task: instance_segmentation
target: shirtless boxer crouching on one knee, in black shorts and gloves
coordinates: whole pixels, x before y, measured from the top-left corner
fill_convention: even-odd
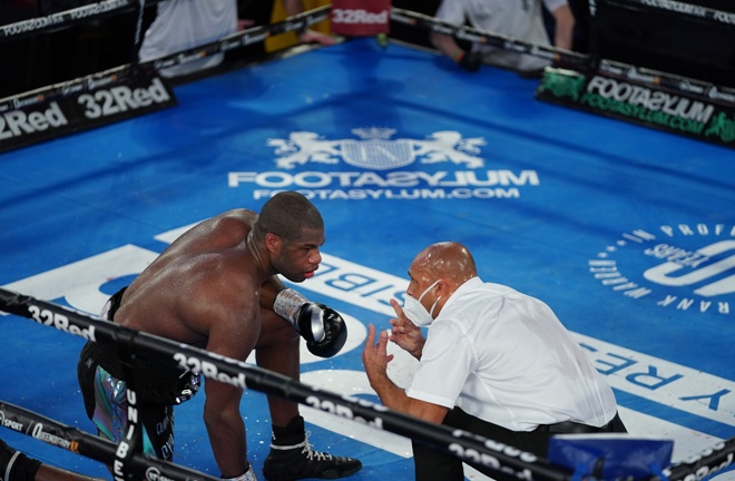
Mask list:
[[[235,360],[245,361],[255,350],[258,366],[297,380],[298,334],[323,357],[336,354],[347,336],[335,311],[310,303],[276,277],[296,283],[312,277],[322,244],[318,210],[301,194],[281,193],[259,215],[228,210],[182,235],[110,298],[102,316]],[[114,346],[87,343],[78,372],[87,414],[100,435],[119,442],[127,423],[126,370],[116,353]],[[146,366],[135,376],[144,451],[170,460],[173,406],[196,393],[198,375],[182,375],[160,360]],[[204,391],[204,422],[222,477],[254,480],[239,411],[243,390],[207,380]],[[362,468],[359,460],[313,451],[296,403],[268,396],[268,408],[273,438],[266,479],[336,479]]]

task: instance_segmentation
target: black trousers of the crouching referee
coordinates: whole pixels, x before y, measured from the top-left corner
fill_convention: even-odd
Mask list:
[[[627,432],[620,418],[615,418],[602,428],[587,426],[578,423],[559,423],[548,426],[541,425],[535,431],[510,431],[497,424],[482,421],[470,415],[459,408],[454,408],[444,418],[444,425],[458,428],[490,440],[512,445],[523,451],[531,452],[540,458],[546,458],[549,449],[549,439],[555,434],[572,432]],[[413,462],[416,481],[463,481],[464,472],[462,461],[443,451],[427,446],[412,441]],[[498,471],[491,471],[481,465],[474,469],[494,479],[496,481],[518,481],[513,475],[502,475]]]

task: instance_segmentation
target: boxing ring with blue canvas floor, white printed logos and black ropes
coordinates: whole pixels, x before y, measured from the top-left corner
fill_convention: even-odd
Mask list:
[[[97,9],[110,14],[134,3]],[[251,29],[204,55],[326,14]],[[400,9],[392,17],[449,28]],[[94,78],[110,85],[145,67]],[[3,99],[0,111],[79,95],[89,84]],[[90,475],[107,477],[102,464],[117,462],[121,472],[218,477],[203,394],[177,408],[177,464],[131,450],[120,455],[90,434],[76,359],[94,335],[246,384],[243,413],[258,474],[271,430],[262,393],[274,393],[304,405],[316,449],[363,461],[351,479],[412,479],[406,436],[532,479],[570,479],[569,469],[528,453],[389,412],[370,391],[360,364],[367,324],[388,326],[386,301],[405,288],[413,255],[452,239],[470,247],[484,279],[559,313],[607,375],[631,433],[674,440],[669,479],[726,469],[735,450],[732,150],[540,102],[537,87],[512,72],[469,76],[432,52],[352,39],[169,88],[176,101],[147,115],[13,146],[0,156],[0,311],[12,314],[2,318],[8,429],[0,435]],[[294,382],[95,317],[107,295],[187,226],[236,206],[257,209],[280,189],[304,193],[324,215],[324,263],[297,288],[345,316],[350,340],[339,356],[303,354]],[[391,375],[405,385],[415,365],[395,354]]]

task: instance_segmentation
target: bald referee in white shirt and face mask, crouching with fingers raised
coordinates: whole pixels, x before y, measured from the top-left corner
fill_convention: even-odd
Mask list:
[[[542,458],[553,434],[626,432],[612,390],[548,305],[482,282],[458,243],[423,249],[409,276],[391,334],[375,343],[371,325],[362,354],[385,406]],[[388,376],[389,340],[421,362],[406,390]],[[416,481],[464,479],[458,458],[415,442],[413,455]]]

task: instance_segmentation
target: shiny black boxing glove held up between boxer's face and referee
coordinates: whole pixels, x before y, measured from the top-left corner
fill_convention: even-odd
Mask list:
[[[332,357],[347,341],[344,320],[324,304],[310,302],[301,306],[294,327],[306,340],[308,352],[320,357]]]

